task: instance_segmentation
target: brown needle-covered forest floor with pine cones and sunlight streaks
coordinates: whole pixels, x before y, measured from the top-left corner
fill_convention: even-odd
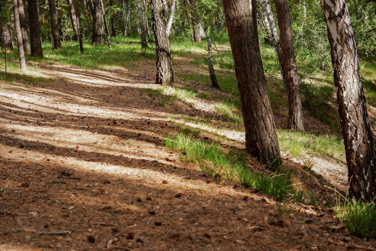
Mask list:
[[[175,58],[176,73],[196,71],[191,60]],[[160,88],[153,59],[105,69],[28,65],[38,66],[28,73],[33,85],[17,76],[0,81],[0,250],[376,248],[374,240],[350,236],[332,209],[277,202],[209,176],[165,148],[166,135],[189,127],[200,130],[199,138],[243,151],[244,129],[222,122],[215,110],[230,95],[179,77],[178,87],[209,97],[149,95],[146,88]],[[278,127],[286,122],[281,114]],[[335,134],[307,113],[305,123],[316,134]],[[327,184],[346,190],[343,156],[282,157],[297,173],[307,157],[315,160]],[[334,192],[306,185],[334,202]]]

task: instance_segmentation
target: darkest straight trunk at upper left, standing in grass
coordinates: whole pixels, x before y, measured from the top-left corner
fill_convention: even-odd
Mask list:
[[[31,42],[31,55],[43,56],[42,52],[42,32],[41,23],[39,21],[38,1],[29,0],[29,30],[30,30],[30,42]]]

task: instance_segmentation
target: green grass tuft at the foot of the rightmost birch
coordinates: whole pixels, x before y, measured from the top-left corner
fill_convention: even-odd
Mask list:
[[[337,208],[337,214],[350,234],[376,239],[375,204],[350,202],[340,210]]]

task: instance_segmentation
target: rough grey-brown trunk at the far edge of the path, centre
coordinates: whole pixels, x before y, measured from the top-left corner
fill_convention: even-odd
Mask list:
[[[173,86],[174,76],[163,0],[151,0],[150,2],[152,3],[152,20],[156,50],[157,77],[155,83]]]

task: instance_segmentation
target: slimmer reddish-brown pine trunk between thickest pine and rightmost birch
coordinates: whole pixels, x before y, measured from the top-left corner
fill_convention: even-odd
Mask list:
[[[287,128],[304,132],[303,108],[300,100],[298,71],[294,55],[294,40],[287,0],[274,0],[277,11],[282,47],[282,61],[287,81],[288,123]]]

